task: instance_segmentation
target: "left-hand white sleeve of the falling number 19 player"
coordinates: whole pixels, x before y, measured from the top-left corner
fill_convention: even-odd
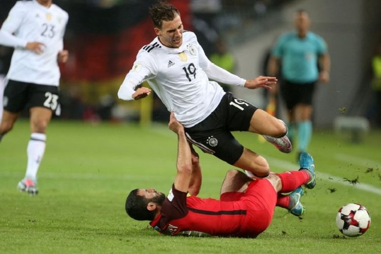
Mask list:
[[[119,99],[125,101],[133,100],[132,94],[135,92],[135,87],[156,76],[156,62],[151,55],[147,55],[148,53],[143,54],[138,53],[132,69],[125,76],[123,83],[119,87]]]

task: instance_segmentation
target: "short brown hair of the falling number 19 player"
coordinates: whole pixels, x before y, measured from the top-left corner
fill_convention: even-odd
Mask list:
[[[179,10],[177,10],[173,5],[168,3],[166,0],[160,0],[156,4],[149,8],[149,16],[153,21],[153,25],[157,28],[162,28],[163,20],[171,21],[176,15],[180,15]]]

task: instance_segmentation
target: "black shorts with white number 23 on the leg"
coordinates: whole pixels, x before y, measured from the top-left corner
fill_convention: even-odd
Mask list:
[[[8,80],[4,90],[3,105],[5,110],[13,113],[18,113],[25,107],[45,107],[58,115],[60,107],[58,87]]]

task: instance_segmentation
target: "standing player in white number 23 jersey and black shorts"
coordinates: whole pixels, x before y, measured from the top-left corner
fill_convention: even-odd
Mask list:
[[[52,0],[18,1],[0,29],[0,44],[14,47],[4,90],[0,140],[26,107],[30,115],[25,177],[17,188],[36,195],[37,171],[45,152],[46,128],[52,113],[59,114],[58,62],[66,62],[63,35],[69,15]]]

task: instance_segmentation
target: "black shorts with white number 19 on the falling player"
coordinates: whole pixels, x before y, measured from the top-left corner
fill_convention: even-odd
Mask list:
[[[243,146],[232,131],[248,131],[257,107],[227,92],[217,108],[195,126],[185,128],[187,140],[203,152],[213,154],[234,165],[243,153]]]

